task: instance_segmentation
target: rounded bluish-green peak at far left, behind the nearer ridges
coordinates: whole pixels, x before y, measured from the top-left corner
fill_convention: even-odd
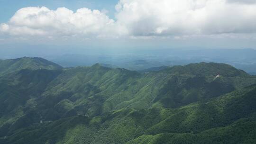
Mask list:
[[[0,75],[15,72],[22,69],[39,70],[48,69],[55,70],[62,67],[56,63],[47,61],[42,58],[23,57],[18,59],[2,60],[0,61]]]

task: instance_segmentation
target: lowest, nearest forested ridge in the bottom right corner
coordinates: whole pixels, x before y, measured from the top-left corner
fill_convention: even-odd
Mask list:
[[[142,135],[126,144],[254,144],[255,134],[256,117],[249,117],[230,126],[213,128],[199,134]]]

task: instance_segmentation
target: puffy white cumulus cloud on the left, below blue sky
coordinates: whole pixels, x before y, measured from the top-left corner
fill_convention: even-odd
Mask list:
[[[99,36],[113,25],[114,20],[99,10],[28,7],[19,9],[0,30],[14,36]]]

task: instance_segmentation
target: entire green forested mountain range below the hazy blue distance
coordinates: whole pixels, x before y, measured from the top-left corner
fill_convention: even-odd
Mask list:
[[[256,77],[230,65],[136,72],[32,60],[1,64],[0,144],[256,142]]]

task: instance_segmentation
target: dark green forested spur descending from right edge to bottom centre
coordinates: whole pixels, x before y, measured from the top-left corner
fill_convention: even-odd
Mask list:
[[[182,115],[186,111],[186,115]],[[256,142],[256,86],[236,90],[178,113],[127,144],[253,144]],[[180,116],[179,116],[180,115]],[[181,118],[183,116],[183,118]]]

